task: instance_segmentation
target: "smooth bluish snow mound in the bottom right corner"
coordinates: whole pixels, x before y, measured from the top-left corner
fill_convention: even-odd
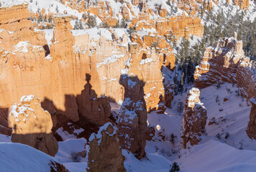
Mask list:
[[[219,142],[216,138],[209,138],[190,150],[181,151],[177,163],[183,166],[183,171],[191,172],[232,171],[232,169],[239,171],[242,167],[242,171],[250,172],[255,171],[255,161],[255,151],[241,151]]]

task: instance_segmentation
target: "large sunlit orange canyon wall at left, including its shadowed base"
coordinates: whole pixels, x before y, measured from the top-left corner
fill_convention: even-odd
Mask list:
[[[129,51],[127,35],[120,38],[114,29],[106,31],[112,39],[106,35],[95,39],[84,30],[78,34],[72,30],[71,16],[55,16],[54,29],[39,30],[28,20],[27,5],[1,8],[0,12],[6,16],[0,19],[3,133],[10,134],[6,114],[22,95],[39,97],[42,108],[51,115],[65,115],[74,122],[81,115],[103,125],[109,121],[109,101],[124,99],[119,76],[131,69],[145,82],[147,110],[157,108],[163,100],[160,69],[164,59],[170,67],[175,61],[164,37],[150,38],[134,55],[134,50]],[[167,48],[156,52],[147,47],[155,41],[161,42],[160,48]]]

